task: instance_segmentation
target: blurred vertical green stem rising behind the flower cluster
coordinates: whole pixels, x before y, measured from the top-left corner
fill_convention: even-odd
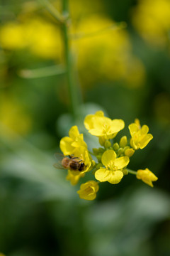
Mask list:
[[[67,86],[69,92],[69,100],[70,100],[70,110],[74,119],[77,119],[79,115],[79,100],[78,100],[78,87],[76,82],[74,81],[74,70],[73,70],[73,61],[72,55],[70,51],[70,41],[69,41],[69,4],[68,0],[62,0],[62,9],[63,16],[67,17],[67,20],[62,24],[62,32],[64,39],[64,60],[66,67],[66,75],[67,75]]]

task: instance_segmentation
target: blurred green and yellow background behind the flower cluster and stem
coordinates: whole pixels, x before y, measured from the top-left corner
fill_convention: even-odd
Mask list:
[[[50,1],[59,11],[62,0]],[[170,1],[69,0],[79,119],[70,113],[60,23],[40,1],[0,4],[0,252],[8,256],[170,255]],[[86,114],[139,118],[154,139],[130,161],[154,188],[125,176],[95,201],[54,169],[54,153]],[[130,138],[130,135],[129,135]],[[81,179],[81,183],[83,179]]]

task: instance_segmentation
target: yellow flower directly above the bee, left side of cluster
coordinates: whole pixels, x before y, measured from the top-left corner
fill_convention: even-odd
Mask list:
[[[60,140],[60,149],[62,153],[67,156],[74,154],[74,150],[80,146],[87,148],[83,134],[79,134],[79,129],[75,125],[69,130],[69,137],[64,137]]]

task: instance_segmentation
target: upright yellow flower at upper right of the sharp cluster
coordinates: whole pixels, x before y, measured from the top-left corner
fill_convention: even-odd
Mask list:
[[[152,134],[148,134],[149,127],[143,125],[140,127],[139,119],[135,119],[135,123],[129,125],[130,135],[130,145],[133,149],[143,149],[149,141],[153,138]]]

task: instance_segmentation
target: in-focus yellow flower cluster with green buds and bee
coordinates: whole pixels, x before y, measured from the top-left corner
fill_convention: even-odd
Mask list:
[[[152,181],[157,181],[157,176],[152,171],[132,171],[127,168],[135,150],[143,149],[153,138],[152,134],[148,134],[147,125],[141,127],[138,119],[129,125],[130,143],[126,136],[121,137],[119,143],[114,141],[118,132],[125,127],[125,123],[122,119],[112,120],[105,117],[102,111],[87,115],[84,126],[91,135],[98,137],[101,144],[98,149],[93,149],[93,153],[88,150],[84,136],[79,134],[77,126],[69,130],[69,137],[64,137],[60,141],[60,149],[65,159],[62,167],[68,169],[67,180],[76,185],[79,178],[84,177],[89,171],[92,171],[96,178],[96,181],[90,180],[81,184],[80,190],[77,191],[80,198],[94,200],[100,182],[117,184],[127,174],[135,174],[138,179],[153,186]],[[97,160],[94,161],[92,156]],[[65,162],[67,164],[64,164]]]

